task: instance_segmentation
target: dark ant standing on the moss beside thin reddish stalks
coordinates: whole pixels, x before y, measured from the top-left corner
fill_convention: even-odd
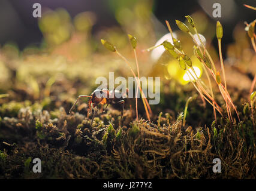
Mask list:
[[[74,106],[76,106],[76,103],[78,100],[80,100],[81,97],[89,97],[88,100],[88,106],[89,106],[89,113],[92,112],[92,108],[97,107],[99,104],[104,105],[107,104],[107,106],[109,106],[109,104],[112,105],[120,105],[122,106],[122,110],[121,110],[121,119],[119,121],[119,127],[121,126],[121,122],[122,122],[122,117],[123,117],[123,113],[124,113],[124,107],[125,107],[125,99],[128,97],[128,89],[127,92],[125,94],[122,94],[120,91],[118,90],[107,90],[106,88],[102,89],[102,90],[94,90],[94,92],[91,94],[91,96],[79,96],[77,97],[76,102],[73,104],[73,106],[71,107],[70,111],[68,113],[71,112],[71,110],[74,108]],[[106,109],[107,106],[105,107],[105,109],[103,110],[103,113],[106,113]],[[96,113],[98,112],[98,107],[97,110],[94,112],[94,114],[92,115],[92,120],[91,120],[91,126],[92,126],[92,122],[94,121],[94,117],[96,115]]]

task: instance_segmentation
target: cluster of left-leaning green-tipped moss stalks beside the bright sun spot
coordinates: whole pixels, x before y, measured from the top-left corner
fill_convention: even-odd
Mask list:
[[[202,67],[204,69],[204,72],[207,76],[207,81],[209,86],[207,87],[206,83],[204,83],[201,79],[198,78],[193,63],[191,61],[191,58],[187,56],[184,51],[182,50],[182,46],[180,44],[180,40],[177,40],[173,38],[173,32],[171,30],[171,26],[168,23],[168,21],[165,21],[167,24],[168,30],[170,31],[171,37],[173,38],[173,44],[170,42],[164,41],[162,42],[162,46],[167,50],[167,53],[171,55],[174,59],[177,59],[179,62],[180,67],[188,72],[188,77],[195,87],[195,89],[200,94],[200,97],[203,101],[207,101],[210,103],[213,107],[213,113],[215,116],[215,121],[217,121],[216,118],[216,111],[219,112],[221,116],[223,115],[222,108],[216,103],[215,95],[216,93],[213,92],[212,83],[216,82],[219,88],[219,93],[221,93],[222,98],[225,101],[226,104],[226,111],[228,118],[230,121],[234,121],[233,116],[231,115],[231,108],[233,108],[237,114],[237,118],[240,121],[239,113],[237,112],[236,106],[234,106],[233,101],[231,100],[230,94],[227,91],[227,83],[225,79],[225,69],[223,64],[223,58],[222,58],[222,51],[221,51],[221,39],[223,38],[223,28],[219,21],[216,23],[216,37],[218,39],[218,47],[219,47],[219,59],[221,62],[221,71],[224,79],[224,85],[221,82],[221,75],[219,72],[216,71],[215,63],[213,62],[212,57],[210,56],[209,52],[207,51],[206,45],[205,45],[205,38],[203,35],[199,34],[197,32],[197,28],[195,26],[195,22],[192,19],[191,16],[186,16],[186,19],[188,20],[188,23],[191,24],[192,29],[194,30],[195,34],[192,34],[192,31],[189,30],[188,26],[186,26],[185,23],[182,21],[176,20],[176,24],[179,27],[182,32],[188,33],[189,36],[193,39],[194,42],[194,55],[200,60]],[[203,38],[203,39],[202,39]],[[177,44],[178,42],[178,44]],[[153,50],[156,47],[149,48],[148,50]],[[212,79],[210,78],[212,76]]]

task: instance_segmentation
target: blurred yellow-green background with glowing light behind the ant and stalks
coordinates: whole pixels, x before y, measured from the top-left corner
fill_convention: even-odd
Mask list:
[[[216,2],[221,4],[221,18],[212,16],[212,5]],[[41,4],[41,18],[32,16],[34,3]],[[52,107],[68,109],[77,95],[95,90],[98,76],[108,78],[109,72],[115,72],[116,77],[132,76],[124,61],[100,43],[100,39],[106,39],[115,44],[135,70],[127,33],[138,41],[141,76],[160,76],[161,91],[165,92],[166,86],[169,92],[179,91],[179,85],[188,84],[189,79],[177,60],[162,53],[156,53],[156,58],[141,50],[152,47],[168,33],[165,26],[168,20],[183,50],[200,72],[200,62],[193,56],[192,39],[175,23],[175,19],[186,23],[187,15],[194,18],[198,32],[206,38],[216,66],[220,64],[215,27],[216,21],[221,21],[227,84],[247,93],[256,73],[256,57],[244,21],[250,23],[256,14],[243,4],[255,7],[256,1],[1,0],[0,93],[10,97],[0,99],[0,104],[10,100],[49,103],[50,96]],[[185,91],[192,88],[188,85]],[[180,99],[186,100],[188,96],[184,96]],[[159,111],[161,107],[178,108],[176,103],[175,99],[171,102],[163,98]]]

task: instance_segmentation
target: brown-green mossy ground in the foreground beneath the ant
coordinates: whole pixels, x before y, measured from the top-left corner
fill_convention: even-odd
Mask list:
[[[182,94],[162,96],[171,97],[181,110]],[[0,178],[256,177],[255,130],[246,109],[241,122],[215,123],[210,106],[203,109],[196,98],[189,104],[185,127],[182,115],[161,109],[161,104],[163,113],[152,122],[135,121],[134,110],[125,109],[118,127],[120,111],[110,107],[91,127],[87,105],[67,115],[70,104],[57,108],[47,98],[2,104]],[[41,159],[42,173],[32,172],[34,158]],[[212,171],[214,158],[221,159],[221,173]]]

